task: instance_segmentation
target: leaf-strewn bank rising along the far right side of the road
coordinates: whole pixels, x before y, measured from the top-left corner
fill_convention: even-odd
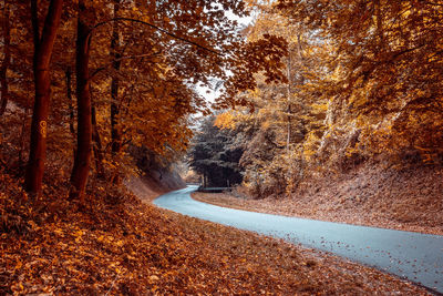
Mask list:
[[[443,169],[362,166],[301,184],[289,196],[193,193],[195,200],[254,212],[443,235]]]

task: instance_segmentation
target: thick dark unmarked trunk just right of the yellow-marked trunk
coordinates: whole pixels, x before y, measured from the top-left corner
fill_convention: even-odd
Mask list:
[[[75,44],[78,133],[76,154],[71,174],[70,198],[84,204],[84,192],[91,163],[92,122],[89,59],[91,44],[91,13],[87,13],[84,0],[79,1],[78,35]]]

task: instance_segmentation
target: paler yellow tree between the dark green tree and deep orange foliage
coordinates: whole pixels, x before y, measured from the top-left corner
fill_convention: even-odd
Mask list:
[[[244,137],[244,185],[257,197],[285,194],[297,186],[326,127],[327,100],[318,89],[312,91],[312,85],[322,84],[329,74],[323,62],[327,44],[272,9],[272,3],[256,4],[248,42],[255,44],[268,34],[287,44],[284,52],[276,52],[284,61],[279,67],[285,79],[270,82],[265,71],[255,74],[255,89],[237,94],[251,112],[240,108],[224,120]]]

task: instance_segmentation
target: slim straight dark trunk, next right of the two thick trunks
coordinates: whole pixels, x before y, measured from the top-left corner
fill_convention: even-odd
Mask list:
[[[119,17],[120,0],[114,1],[114,18]],[[122,133],[119,126],[119,114],[120,114],[120,103],[119,103],[119,76],[116,73],[121,68],[121,53],[120,53],[120,32],[119,23],[113,22],[112,28],[112,39],[111,39],[111,54],[113,58],[112,67],[114,69],[114,75],[111,81],[111,140],[112,140],[112,156],[114,161],[119,161],[117,156],[122,150]],[[117,166],[119,167],[119,166]],[[120,183],[119,172],[113,174],[112,182],[114,184]]]

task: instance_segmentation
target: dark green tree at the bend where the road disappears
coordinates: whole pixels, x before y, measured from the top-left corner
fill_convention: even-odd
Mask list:
[[[241,183],[243,146],[235,140],[234,131],[215,125],[215,116],[202,122],[189,151],[189,166],[202,175],[205,187]]]

